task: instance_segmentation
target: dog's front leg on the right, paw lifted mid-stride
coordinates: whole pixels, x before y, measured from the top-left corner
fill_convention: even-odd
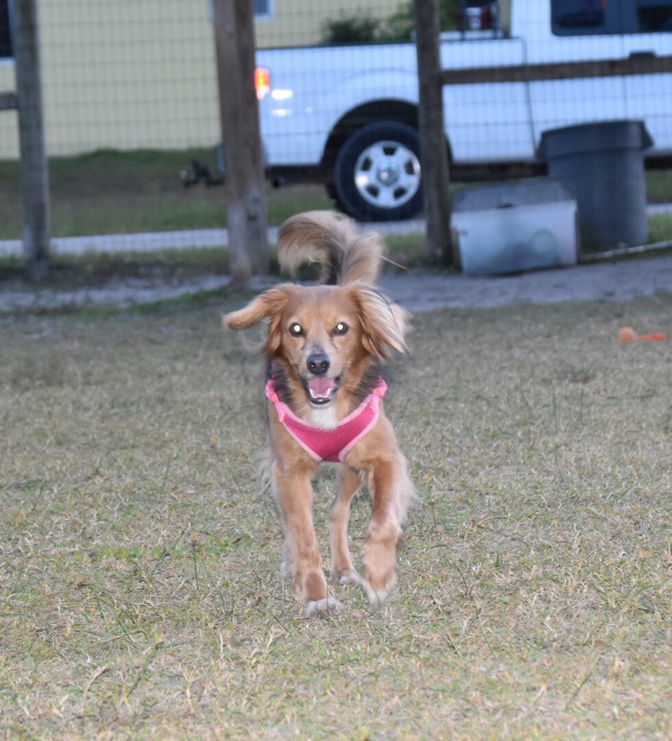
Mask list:
[[[362,588],[370,604],[379,607],[394,586],[396,547],[412,487],[401,455],[376,460],[367,474],[373,507],[362,551]]]

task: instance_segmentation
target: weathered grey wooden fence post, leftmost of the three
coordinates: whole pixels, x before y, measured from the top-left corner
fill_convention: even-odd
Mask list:
[[[24,260],[30,279],[39,280],[49,269],[50,207],[36,0],[14,0],[10,16],[19,99]]]

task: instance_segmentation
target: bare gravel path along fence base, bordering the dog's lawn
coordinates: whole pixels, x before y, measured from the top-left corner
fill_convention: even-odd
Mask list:
[[[184,282],[127,279],[96,288],[57,291],[34,290],[15,282],[0,293],[0,312],[55,309],[65,306],[118,306],[175,298],[197,290],[227,285],[227,276],[204,276]],[[252,288],[270,285],[257,280]],[[498,307],[513,304],[548,304],[563,301],[628,301],[636,296],[672,293],[672,256],[647,256],[620,262],[576,265],[538,270],[513,276],[471,278],[439,276],[409,270],[387,274],[379,281],[382,290],[413,312],[454,307]]]

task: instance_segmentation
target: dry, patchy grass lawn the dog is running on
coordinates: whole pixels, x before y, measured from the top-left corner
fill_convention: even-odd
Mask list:
[[[246,298],[0,319],[5,737],[668,737],[671,345],[615,336],[672,297],[416,316],[422,504],[390,602],[328,620],[279,578]]]

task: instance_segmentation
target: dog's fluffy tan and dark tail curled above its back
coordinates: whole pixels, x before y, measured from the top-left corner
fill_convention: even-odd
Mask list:
[[[377,234],[358,234],[351,219],[333,211],[299,213],[278,233],[280,267],[293,273],[304,260],[320,262],[320,282],[328,285],[373,284],[381,256]]]

